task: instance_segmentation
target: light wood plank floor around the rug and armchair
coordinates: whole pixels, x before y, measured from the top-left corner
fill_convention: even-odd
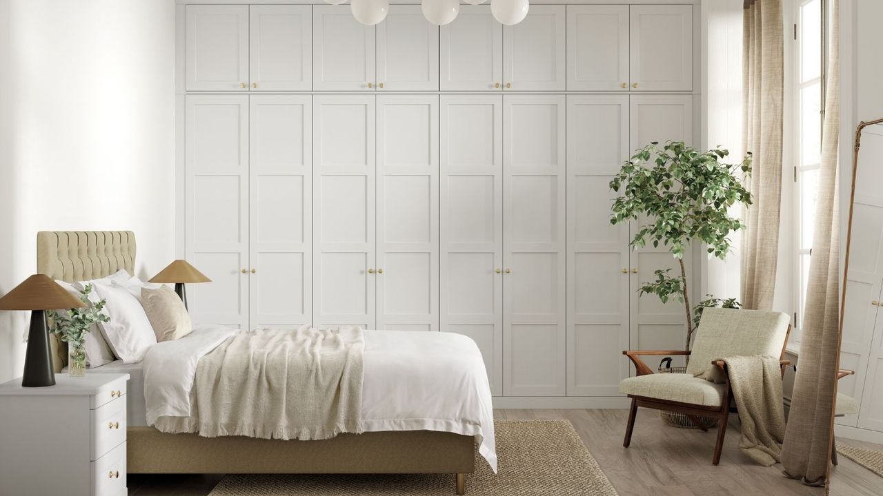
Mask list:
[[[711,462],[716,432],[668,427],[662,424],[658,412],[641,409],[631,447],[625,449],[623,432],[627,416],[627,410],[494,410],[497,418],[570,420],[621,496],[824,494],[822,488],[783,477],[781,466],[761,467],[741,455],[736,447],[739,424],[735,416],[730,419],[726,447],[717,467]],[[868,443],[861,446],[881,448]],[[840,466],[834,469],[831,494],[883,494],[883,479],[843,456],[840,460]],[[211,492],[221,477],[132,475],[129,494],[201,496]],[[469,494],[468,478],[466,493]]]

